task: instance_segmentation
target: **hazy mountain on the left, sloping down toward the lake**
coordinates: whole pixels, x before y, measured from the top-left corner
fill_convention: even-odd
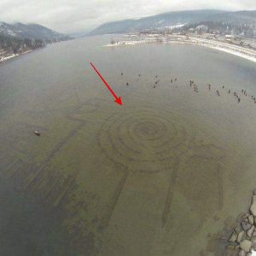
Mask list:
[[[40,39],[43,41],[62,41],[70,39],[69,36],[55,32],[38,24],[8,24],[0,22],[0,35],[5,37]]]

